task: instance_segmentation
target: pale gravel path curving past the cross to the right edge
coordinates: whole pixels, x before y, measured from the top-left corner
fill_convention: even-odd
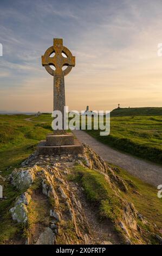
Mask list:
[[[160,165],[114,150],[84,131],[75,130],[73,132],[82,143],[89,144],[105,161],[126,169],[129,173],[154,186],[162,184],[162,167]]]

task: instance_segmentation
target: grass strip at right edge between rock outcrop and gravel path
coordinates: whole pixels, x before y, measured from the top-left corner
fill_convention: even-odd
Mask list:
[[[140,214],[144,215],[147,220],[150,220],[150,222],[162,228],[162,198],[157,197],[157,189],[118,166],[114,166],[113,164],[109,164],[109,166],[113,168],[117,167],[120,172],[120,177],[126,182],[128,193],[121,192],[122,196],[129,202],[132,202],[135,208]],[[134,193],[134,190],[138,193]]]

